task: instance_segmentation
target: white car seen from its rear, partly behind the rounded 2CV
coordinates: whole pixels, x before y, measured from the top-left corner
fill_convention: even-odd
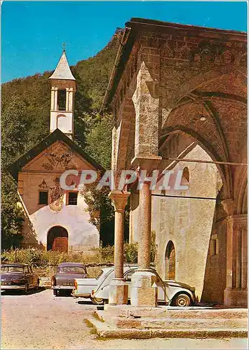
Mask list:
[[[133,266],[137,265],[125,265],[123,269],[126,271],[126,269],[130,269]],[[93,304],[103,304],[103,299],[94,297],[92,293],[112,272],[114,272],[114,267],[103,267],[95,279],[74,279],[73,297],[86,297],[90,298]]]

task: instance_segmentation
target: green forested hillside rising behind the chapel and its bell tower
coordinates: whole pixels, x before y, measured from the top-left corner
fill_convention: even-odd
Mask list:
[[[74,141],[97,162],[108,169],[112,153],[112,117],[98,112],[105,95],[121,30],[117,30],[107,46],[89,59],[71,66],[77,91],[74,105]],[[58,57],[59,59],[59,57]],[[2,85],[1,97],[1,247],[17,247],[22,239],[22,210],[18,208],[17,184],[8,173],[8,166],[49,134],[52,71],[11,80]],[[98,198],[102,218],[110,235],[112,209],[107,193]],[[89,203],[91,205],[91,203]],[[96,203],[94,204],[96,206]],[[112,243],[113,237],[106,237]],[[100,237],[101,239],[101,237]]]

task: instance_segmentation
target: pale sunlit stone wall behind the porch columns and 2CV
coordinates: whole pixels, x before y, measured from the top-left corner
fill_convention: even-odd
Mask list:
[[[211,160],[200,146],[195,146],[185,158]],[[189,169],[189,190],[169,190],[166,191],[166,195],[216,198],[217,190],[222,186],[217,167],[204,163],[179,162],[174,170],[186,169],[186,167]],[[159,194],[161,191],[154,191],[154,194],[156,193]],[[131,197],[130,241],[137,241],[140,227],[139,195],[134,193]],[[220,301],[225,286],[226,244],[224,231],[220,230],[221,248],[217,255],[211,258],[209,247],[213,232],[215,202],[215,200],[178,199],[152,195],[152,230],[156,231],[156,269],[163,279],[166,279],[166,246],[168,241],[173,241],[175,246],[175,279],[195,286],[196,295],[201,299],[204,293],[204,276],[206,276],[206,279],[208,278],[210,281],[210,283],[206,283],[206,288],[211,288],[205,292],[206,299]],[[220,265],[221,262],[222,265]],[[216,288],[215,280],[219,279],[216,274],[213,275],[213,269],[216,268],[217,274],[222,268],[219,280],[221,288],[218,284]]]

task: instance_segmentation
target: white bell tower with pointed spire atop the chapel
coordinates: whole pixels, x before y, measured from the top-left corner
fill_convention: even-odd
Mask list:
[[[51,83],[50,132],[60,129],[67,137],[73,139],[76,80],[69,68],[65,48],[49,79]]]

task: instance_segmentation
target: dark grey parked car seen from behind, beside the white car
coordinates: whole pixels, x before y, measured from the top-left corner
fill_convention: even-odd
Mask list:
[[[74,279],[85,279],[87,276],[86,266],[79,262],[62,262],[58,265],[57,272],[51,279],[53,295],[58,296],[62,291],[72,293]]]

